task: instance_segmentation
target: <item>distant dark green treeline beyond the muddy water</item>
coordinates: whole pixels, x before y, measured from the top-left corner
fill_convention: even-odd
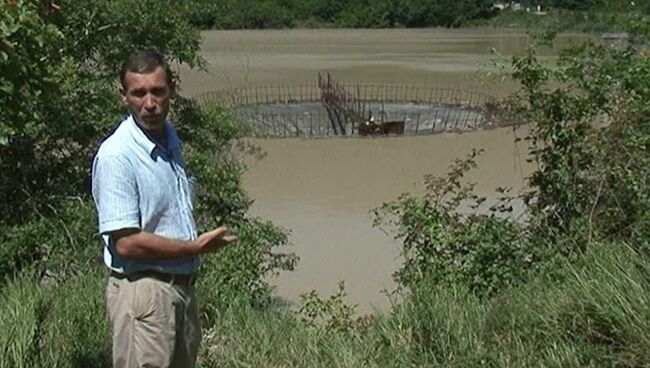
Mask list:
[[[499,15],[493,0],[191,0],[200,29],[460,27]],[[514,2],[501,1],[514,4]],[[642,11],[650,0],[523,0],[522,8]]]

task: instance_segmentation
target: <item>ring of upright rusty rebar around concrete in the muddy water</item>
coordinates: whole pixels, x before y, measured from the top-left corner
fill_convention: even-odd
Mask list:
[[[359,124],[402,121],[403,134],[466,131],[491,124],[493,99],[477,91],[398,84],[334,82],[246,86],[196,96],[203,108],[233,109],[264,137],[355,135]]]

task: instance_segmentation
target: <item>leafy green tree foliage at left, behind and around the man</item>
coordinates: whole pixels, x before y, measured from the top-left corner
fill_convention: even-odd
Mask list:
[[[60,278],[96,263],[101,245],[88,171],[101,137],[123,113],[115,87],[126,56],[154,48],[174,63],[203,63],[184,4],[88,1],[74,10],[65,5],[62,11],[29,1],[2,7],[2,52],[8,57],[0,58],[6,87],[0,95],[0,131],[6,133],[0,166],[12,175],[0,179],[1,276],[32,268]],[[295,259],[271,251],[286,243],[283,231],[245,216],[250,200],[241,189],[244,166],[231,154],[245,127],[223,111],[204,113],[180,97],[172,109],[188,172],[199,184],[200,228],[228,224],[242,238],[209,261],[208,279],[218,286],[221,302],[236,293],[261,298],[268,291],[263,277],[291,268]]]

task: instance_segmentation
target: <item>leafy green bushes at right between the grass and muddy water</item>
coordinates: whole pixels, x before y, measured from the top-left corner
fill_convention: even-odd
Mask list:
[[[645,22],[645,23],[644,23]],[[646,30],[641,23],[634,29]],[[503,119],[529,124],[529,160],[536,163],[522,199],[527,223],[495,213],[461,215],[477,198],[462,177],[472,153],[447,177],[425,178],[425,194],[410,194],[375,211],[403,240],[396,279],[466,285],[494,295],[525,281],[529,270],[554,272],[577,261],[597,240],[648,249],[650,238],[650,61],[638,47],[587,41],[563,50],[556,65],[537,59],[554,34],[540,34],[512,59],[521,90],[502,102]],[[639,41],[640,42],[640,41]]]

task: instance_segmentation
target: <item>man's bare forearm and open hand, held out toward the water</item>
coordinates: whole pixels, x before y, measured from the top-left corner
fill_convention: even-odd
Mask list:
[[[217,252],[237,240],[226,235],[227,227],[219,227],[201,234],[194,241],[165,238],[136,228],[112,231],[109,235],[115,241],[117,254],[131,259],[175,259]]]

